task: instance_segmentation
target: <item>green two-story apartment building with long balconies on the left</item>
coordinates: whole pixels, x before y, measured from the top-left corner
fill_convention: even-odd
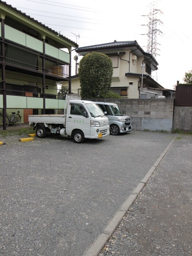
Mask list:
[[[71,50],[78,45],[0,0],[0,112],[54,113],[62,109],[57,83],[71,90]],[[4,126],[4,129],[6,127]]]

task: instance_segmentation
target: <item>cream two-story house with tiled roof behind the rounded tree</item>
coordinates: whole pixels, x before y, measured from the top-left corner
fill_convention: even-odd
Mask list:
[[[150,53],[144,52],[137,41],[114,41],[106,44],[79,47],[76,52],[84,56],[91,52],[101,52],[113,62],[113,77],[110,90],[126,98],[157,98],[168,96],[152,77],[158,63]],[[76,75],[72,76],[72,92],[80,93],[78,63]],[[65,84],[65,83],[64,83]]]

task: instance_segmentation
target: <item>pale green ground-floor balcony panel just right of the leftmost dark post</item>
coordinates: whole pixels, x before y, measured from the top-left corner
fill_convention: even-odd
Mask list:
[[[27,97],[7,95],[7,108],[26,109]]]

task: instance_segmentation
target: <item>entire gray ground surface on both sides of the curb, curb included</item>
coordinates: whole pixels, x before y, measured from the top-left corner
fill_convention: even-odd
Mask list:
[[[191,255],[191,152],[139,131],[1,146],[0,254]]]

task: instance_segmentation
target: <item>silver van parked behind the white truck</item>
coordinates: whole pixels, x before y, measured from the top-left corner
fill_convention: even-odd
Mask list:
[[[115,103],[95,102],[109,119],[110,134],[118,135],[120,132],[131,131],[131,117],[122,114],[120,108]]]

